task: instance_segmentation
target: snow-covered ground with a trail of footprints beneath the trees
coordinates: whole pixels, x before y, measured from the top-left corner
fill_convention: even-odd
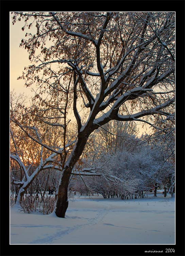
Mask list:
[[[175,244],[175,198],[75,196],[66,218],[10,209],[10,244]]]

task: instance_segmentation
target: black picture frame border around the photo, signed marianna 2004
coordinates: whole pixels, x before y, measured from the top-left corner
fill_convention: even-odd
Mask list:
[[[52,4],[52,5],[51,5]],[[111,6],[113,5],[113,8]],[[35,7],[36,6],[36,7]],[[35,10],[36,9],[36,10]],[[174,11],[176,14],[176,244],[175,245],[10,245],[9,244],[9,12],[19,10],[54,11]],[[177,255],[184,256],[185,213],[184,213],[184,0],[1,0],[0,1],[0,217],[1,256],[144,256]],[[4,153],[5,152],[5,153]],[[54,247],[53,247],[54,246]],[[165,253],[166,248],[174,248],[175,253]],[[145,251],[163,253],[145,253]]]

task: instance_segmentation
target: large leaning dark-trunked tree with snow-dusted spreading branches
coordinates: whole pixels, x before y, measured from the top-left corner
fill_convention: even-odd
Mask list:
[[[55,213],[65,217],[70,175],[93,131],[110,120],[145,122],[157,129],[156,116],[168,118],[172,114],[168,110],[174,111],[169,108],[174,104],[174,13],[12,14],[13,24],[22,19],[22,30],[31,31],[21,46],[28,50],[32,65],[19,78],[36,88],[33,118],[64,129],[63,155],[55,145],[47,148],[61,155]],[[68,150],[66,134],[72,116],[78,132]],[[32,127],[14,122],[46,146],[30,135]]]

